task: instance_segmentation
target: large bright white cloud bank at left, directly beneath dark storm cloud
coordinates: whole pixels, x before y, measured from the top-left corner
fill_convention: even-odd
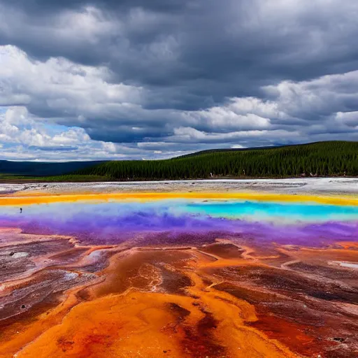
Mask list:
[[[44,106],[63,117],[85,118],[141,101],[141,87],[108,83],[109,78],[104,66],[83,66],[64,58],[34,61],[15,46],[0,46],[0,106]]]

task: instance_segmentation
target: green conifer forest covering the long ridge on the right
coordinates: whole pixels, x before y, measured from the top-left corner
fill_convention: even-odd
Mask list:
[[[358,142],[331,141],[253,150],[213,150],[165,160],[113,161],[81,169],[76,174],[113,180],[358,176]]]

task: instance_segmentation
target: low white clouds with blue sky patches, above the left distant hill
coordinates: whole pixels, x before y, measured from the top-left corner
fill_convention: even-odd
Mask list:
[[[124,146],[93,141],[83,128],[46,126],[25,107],[0,113],[0,142],[1,159],[120,159],[127,154]]]

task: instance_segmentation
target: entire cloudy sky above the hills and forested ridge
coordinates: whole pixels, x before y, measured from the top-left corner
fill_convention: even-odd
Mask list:
[[[358,1],[0,0],[0,159],[358,141]]]

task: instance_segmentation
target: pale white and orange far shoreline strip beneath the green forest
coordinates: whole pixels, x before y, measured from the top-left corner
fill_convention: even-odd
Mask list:
[[[164,180],[147,182],[48,182],[3,183],[0,195],[49,196],[85,194],[283,194],[298,196],[354,196],[358,198],[358,178],[295,179],[213,179]],[[170,196],[170,195],[169,195]],[[234,195],[233,195],[234,196]],[[1,199],[0,199],[1,200]]]

